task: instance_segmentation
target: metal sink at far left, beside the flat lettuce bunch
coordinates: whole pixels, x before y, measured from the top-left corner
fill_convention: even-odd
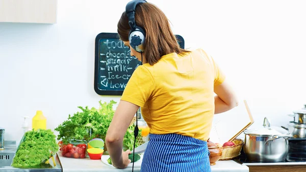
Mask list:
[[[4,150],[0,150],[0,168],[11,166],[16,150],[16,141],[4,142]]]

